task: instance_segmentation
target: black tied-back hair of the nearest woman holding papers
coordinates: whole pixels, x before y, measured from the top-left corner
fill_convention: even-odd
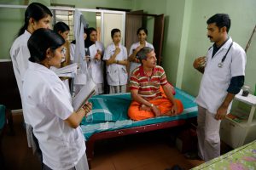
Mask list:
[[[28,39],[27,47],[30,52],[29,60],[34,63],[40,63],[46,58],[46,51],[48,48],[55,51],[65,43],[63,37],[53,30],[39,28],[32,33]]]

